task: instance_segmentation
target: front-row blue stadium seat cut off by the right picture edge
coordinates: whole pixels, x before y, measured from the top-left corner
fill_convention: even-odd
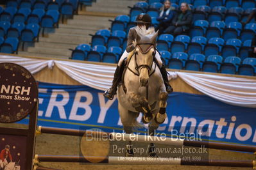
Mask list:
[[[239,75],[255,75],[256,73],[256,58],[246,58],[242,65],[238,68]]]

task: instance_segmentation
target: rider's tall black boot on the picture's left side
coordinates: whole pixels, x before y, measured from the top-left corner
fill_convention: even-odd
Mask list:
[[[121,80],[122,74],[124,70],[124,61],[121,66],[117,65],[114,73],[114,79],[112,81],[112,87],[105,91],[104,96],[107,97],[109,100],[113,100],[115,93],[117,91],[117,85]]]

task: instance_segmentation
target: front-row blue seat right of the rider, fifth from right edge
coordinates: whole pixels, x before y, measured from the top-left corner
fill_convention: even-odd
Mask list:
[[[185,62],[187,61],[187,53],[185,52],[175,52],[173,53],[172,58],[169,60],[168,68],[173,69],[182,69],[185,66]]]

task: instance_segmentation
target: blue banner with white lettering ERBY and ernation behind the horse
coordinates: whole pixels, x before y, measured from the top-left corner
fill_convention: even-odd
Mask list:
[[[122,129],[117,99],[107,100],[103,91],[39,82],[39,100],[38,125]],[[228,105],[205,95],[171,93],[166,112],[167,119],[158,132],[179,135],[200,130],[201,136],[210,141],[256,144],[256,109]]]

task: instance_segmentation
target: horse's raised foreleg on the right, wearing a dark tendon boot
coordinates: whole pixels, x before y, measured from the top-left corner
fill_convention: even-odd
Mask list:
[[[157,116],[155,116],[155,121],[158,124],[164,123],[164,120],[166,120],[167,118],[167,114],[166,114],[167,98],[168,98],[168,93],[166,91],[160,92],[159,112],[157,113]]]

